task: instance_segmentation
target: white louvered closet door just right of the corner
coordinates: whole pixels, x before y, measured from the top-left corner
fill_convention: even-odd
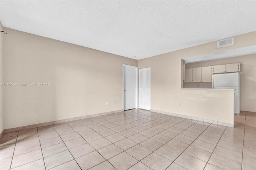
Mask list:
[[[139,69],[139,108],[150,110],[150,67]]]

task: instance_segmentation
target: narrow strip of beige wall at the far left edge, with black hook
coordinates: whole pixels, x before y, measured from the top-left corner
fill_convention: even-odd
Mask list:
[[[0,22],[0,30],[3,31],[2,23]],[[3,32],[0,32],[0,84],[3,83]],[[4,130],[4,117],[3,117],[3,87],[0,86],[0,113],[2,118],[0,120],[0,133]]]

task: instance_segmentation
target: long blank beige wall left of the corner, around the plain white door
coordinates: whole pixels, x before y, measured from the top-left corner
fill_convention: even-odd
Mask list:
[[[4,87],[4,129],[122,109],[122,64],[137,60],[4,29],[4,83],[52,83]]]

